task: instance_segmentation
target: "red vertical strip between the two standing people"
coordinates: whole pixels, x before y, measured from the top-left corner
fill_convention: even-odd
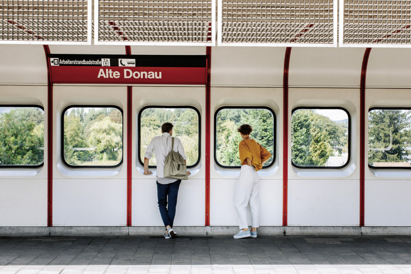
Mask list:
[[[206,226],[210,225],[210,97],[211,97],[211,47],[207,47],[207,82],[206,82]]]

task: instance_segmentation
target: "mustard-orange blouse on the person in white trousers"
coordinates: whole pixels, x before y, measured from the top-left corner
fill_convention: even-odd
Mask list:
[[[238,150],[240,152],[241,165],[247,165],[246,159],[250,158],[251,164],[255,167],[256,171],[263,168],[261,163],[271,157],[271,153],[254,139],[242,140],[238,145]]]

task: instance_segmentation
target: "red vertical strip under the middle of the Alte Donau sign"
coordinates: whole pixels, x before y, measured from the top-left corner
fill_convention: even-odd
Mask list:
[[[126,55],[131,55],[130,46],[125,46]],[[132,226],[132,100],[133,88],[127,87],[127,226]]]

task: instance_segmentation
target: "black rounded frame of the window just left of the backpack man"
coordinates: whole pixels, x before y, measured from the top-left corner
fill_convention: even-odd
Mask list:
[[[66,160],[64,159],[64,114],[66,113],[67,109],[69,108],[116,108],[120,111],[121,116],[122,116],[122,120],[121,120],[121,127],[122,127],[122,134],[121,134],[121,143],[124,147],[124,113],[123,110],[119,107],[119,106],[115,106],[115,105],[69,105],[67,107],[65,107],[61,113],[61,161],[62,163],[68,167],[68,168],[104,168],[104,169],[109,169],[109,168],[117,168],[119,166],[121,166],[123,164],[123,160],[124,160],[124,149],[122,151],[121,154],[121,161],[114,166],[73,166],[70,165],[69,163],[66,162]]]

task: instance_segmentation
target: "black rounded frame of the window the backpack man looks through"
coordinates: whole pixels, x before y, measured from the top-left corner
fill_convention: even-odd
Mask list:
[[[194,168],[196,166],[198,166],[200,164],[201,161],[201,113],[200,111],[194,107],[194,106],[170,106],[170,105],[164,105],[164,106],[159,106],[159,105],[148,105],[148,106],[144,106],[140,109],[140,111],[138,112],[138,116],[137,116],[137,123],[138,123],[138,136],[137,136],[137,147],[138,147],[138,151],[137,151],[137,160],[140,163],[141,166],[144,166],[144,162],[141,160],[141,114],[143,113],[144,110],[148,109],[148,108],[189,108],[189,109],[193,109],[197,115],[198,115],[198,158],[197,161],[190,166],[187,166],[187,168]],[[148,168],[157,168],[157,166],[153,166],[153,165],[149,165]]]

